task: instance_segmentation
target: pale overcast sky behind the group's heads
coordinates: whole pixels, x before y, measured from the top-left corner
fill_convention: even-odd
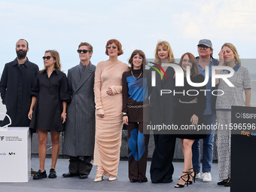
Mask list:
[[[234,44],[241,58],[255,58],[254,0],[0,0],[0,23],[0,73],[16,57],[19,38],[29,41],[29,60],[40,69],[45,50],[59,51],[65,72],[79,63],[76,50],[82,41],[93,45],[93,64],[108,59],[105,43],[111,38],[123,44],[123,62],[135,49],[154,58],[159,40],[169,41],[175,58],[185,52],[197,56],[202,38],[212,40],[215,58],[225,42]],[[250,72],[255,66],[248,66]]]

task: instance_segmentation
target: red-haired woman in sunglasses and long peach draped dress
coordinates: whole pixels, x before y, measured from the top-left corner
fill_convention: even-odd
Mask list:
[[[96,66],[94,93],[96,102],[96,136],[93,164],[97,166],[96,181],[103,174],[109,181],[117,178],[122,138],[122,75],[128,65],[117,59],[123,54],[122,45],[116,39],[106,44],[106,61]]]

